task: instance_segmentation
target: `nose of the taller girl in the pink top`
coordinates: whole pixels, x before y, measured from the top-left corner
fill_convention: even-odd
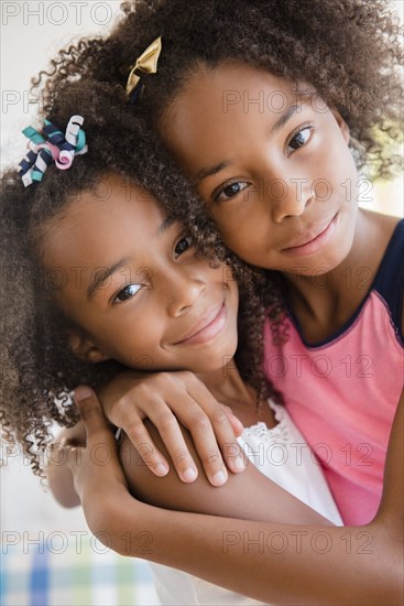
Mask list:
[[[291,177],[273,181],[266,201],[272,220],[283,223],[288,217],[303,215],[314,201],[310,183],[307,178]]]

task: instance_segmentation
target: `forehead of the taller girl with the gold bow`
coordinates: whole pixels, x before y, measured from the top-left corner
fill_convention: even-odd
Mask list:
[[[245,156],[245,143],[264,144],[264,136],[272,137],[304,110],[306,118],[307,110],[328,110],[310,85],[226,62],[214,68],[200,67],[168,106],[159,127],[183,170],[198,182],[206,166]]]

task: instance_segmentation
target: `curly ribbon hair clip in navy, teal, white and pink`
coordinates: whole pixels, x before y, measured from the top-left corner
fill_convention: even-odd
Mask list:
[[[61,171],[66,171],[72,166],[75,155],[87,152],[86,134],[80,128],[83,122],[81,116],[72,116],[65,134],[48,120],[44,120],[44,137],[32,127],[22,131],[30,139],[30,151],[20,162],[18,173],[25,187],[42,181],[52,162],[55,162]]]

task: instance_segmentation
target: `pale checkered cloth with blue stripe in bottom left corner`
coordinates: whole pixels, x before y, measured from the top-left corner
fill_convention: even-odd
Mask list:
[[[94,537],[67,541],[56,534],[2,543],[1,606],[159,604],[146,562],[122,558]]]

